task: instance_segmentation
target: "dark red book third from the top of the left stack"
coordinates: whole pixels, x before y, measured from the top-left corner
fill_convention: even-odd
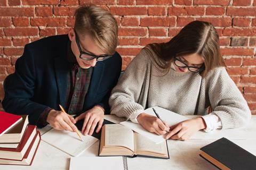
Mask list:
[[[0,159],[22,160],[30,144],[36,138],[36,133],[36,126],[28,125],[17,148],[0,148]]]

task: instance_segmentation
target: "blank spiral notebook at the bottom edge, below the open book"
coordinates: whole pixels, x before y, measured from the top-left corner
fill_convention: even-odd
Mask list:
[[[127,170],[127,159],[122,156],[71,157],[69,170]]]

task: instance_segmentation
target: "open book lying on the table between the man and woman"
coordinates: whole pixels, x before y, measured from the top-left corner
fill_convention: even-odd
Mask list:
[[[166,140],[156,144],[121,124],[102,127],[99,156],[136,156],[169,159]]]

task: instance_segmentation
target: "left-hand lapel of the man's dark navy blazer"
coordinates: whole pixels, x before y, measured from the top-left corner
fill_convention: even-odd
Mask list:
[[[66,89],[69,72],[69,63],[66,58],[67,57],[58,57],[54,59],[60,105],[62,106],[65,104],[66,100]]]

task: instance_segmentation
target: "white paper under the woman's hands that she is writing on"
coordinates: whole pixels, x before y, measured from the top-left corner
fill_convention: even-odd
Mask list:
[[[157,114],[159,115],[159,117],[168,123],[169,126],[172,126],[174,124],[177,124],[179,122],[188,120],[187,117],[179,115],[177,113],[168,111],[164,108],[155,106],[154,109],[156,110]],[[148,108],[145,110],[146,113],[156,116],[153,109],[152,108]],[[121,122],[120,124],[132,129],[133,131],[147,137],[148,139],[154,141],[155,143],[161,143],[163,142],[165,139],[162,135],[157,135],[155,133],[151,133],[149,131],[147,131],[146,129],[144,129],[140,124],[137,123],[133,123],[131,121],[125,121],[125,122]]]

